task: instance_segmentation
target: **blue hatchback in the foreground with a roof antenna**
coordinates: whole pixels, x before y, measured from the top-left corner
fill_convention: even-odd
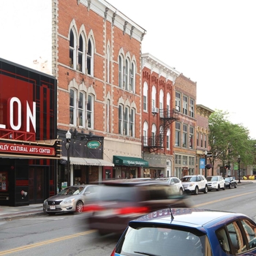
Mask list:
[[[256,255],[255,233],[244,214],[166,208],[129,222],[111,256]]]

